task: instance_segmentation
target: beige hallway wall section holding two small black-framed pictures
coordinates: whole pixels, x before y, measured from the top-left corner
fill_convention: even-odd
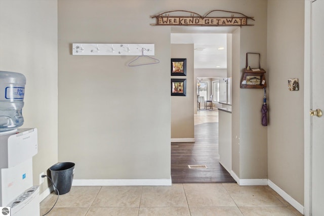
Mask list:
[[[193,44],[172,44],[171,58],[187,59],[187,75],[171,76],[186,79],[186,96],[171,96],[171,139],[194,139],[193,119]]]

